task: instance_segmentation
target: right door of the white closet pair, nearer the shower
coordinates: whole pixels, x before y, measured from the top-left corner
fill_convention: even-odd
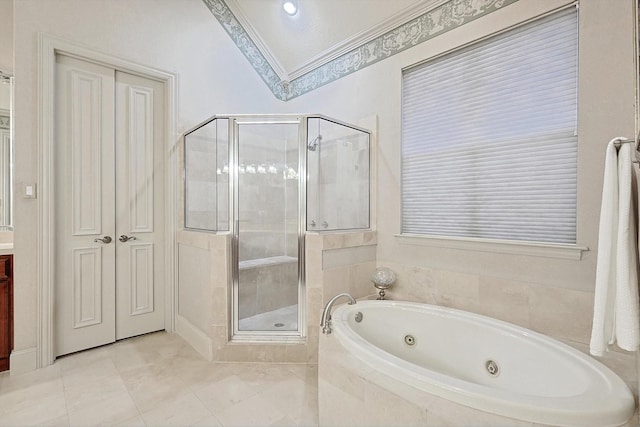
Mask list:
[[[116,112],[116,338],[122,339],[164,329],[163,85],[117,72]]]

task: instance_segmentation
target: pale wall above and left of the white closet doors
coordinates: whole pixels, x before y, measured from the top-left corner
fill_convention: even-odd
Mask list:
[[[20,0],[15,4],[15,22],[17,195],[25,183],[38,179],[38,33],[175,73],[178,133],[216,113],[273,111],[281,104],[201,0]],[[178,137],[173,136],[176,142]],[[15,200],[18,356],[36,345],[37,202]]]

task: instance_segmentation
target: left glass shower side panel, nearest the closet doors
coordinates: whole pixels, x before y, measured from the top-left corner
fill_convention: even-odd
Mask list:
[[[184,137],[186,228],[229,230],[229,119],[213,119]]]

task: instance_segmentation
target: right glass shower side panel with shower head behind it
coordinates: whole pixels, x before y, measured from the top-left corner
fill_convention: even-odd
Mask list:
[[[370,135],[331,120],[307,121],[307,230],[369,228]]]

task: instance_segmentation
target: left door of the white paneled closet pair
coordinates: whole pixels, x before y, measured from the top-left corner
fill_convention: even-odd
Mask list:
[[[56,356],[115,340],[115,71],[58,55]]]

